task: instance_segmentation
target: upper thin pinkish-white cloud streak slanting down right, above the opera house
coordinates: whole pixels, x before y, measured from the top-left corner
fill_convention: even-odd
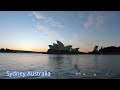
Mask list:
[[[56,26],[59,28],[64,28],[64,26],[60,23],[55,21],[53,18],[43,16],[40,12],[32,12],[32,14],[38,19],[38,20],[43,20],[45,23],[51,25],[51,26]]]

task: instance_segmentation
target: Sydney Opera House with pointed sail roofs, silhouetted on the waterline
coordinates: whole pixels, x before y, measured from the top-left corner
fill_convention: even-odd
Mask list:
[[[57,44],[49,45],[48,53],[78,53],[79,48],[72,48],[72,45],[65,46],[62,42],[57,40]]]

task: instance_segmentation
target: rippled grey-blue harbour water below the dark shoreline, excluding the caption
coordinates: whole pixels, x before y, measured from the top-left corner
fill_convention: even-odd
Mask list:
[[[50,71],[51,76],[8,77],[6,71]],[[0,79],[120,79],[120,55],[0,53]]]

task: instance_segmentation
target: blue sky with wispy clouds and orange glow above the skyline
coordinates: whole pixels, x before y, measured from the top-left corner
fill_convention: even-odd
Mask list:
[[[120,11],[0,11],[0,48],[44,52],[56,40],[82,52],[120,46]]]

